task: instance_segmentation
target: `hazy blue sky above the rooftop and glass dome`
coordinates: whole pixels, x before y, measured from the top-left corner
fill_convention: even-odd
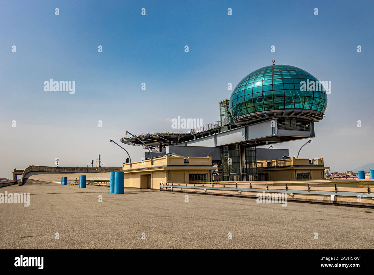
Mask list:
[[[326,116],[300,158],[322,157],[341,172],[374,163],[373,6],[1,0],[0,178],[12,178],[14,168],[55,166],[55,158],[87,166],[101,154],[106,166],[120,167],[127,155],[110,139],[119,143],[126,130],[175,131],[178,116],[217,121],[228,83],[234,88],[273,59],[331,81]],[[74,94],[45,91],[50,79],[75,81]],[[305,142],[273,147],[296,156]],[[132,161],[143,156],[142,147],[121,145]]]

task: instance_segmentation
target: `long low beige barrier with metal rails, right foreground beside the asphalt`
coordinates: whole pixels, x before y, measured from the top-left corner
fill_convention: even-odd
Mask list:
[[[211,195],[235,195],[256,197],[258,193],[285,193],[289,199],[313,202],[364,205],[374,207],[374,182],[365,183],[315,183],[315,182],[194,182],[194,181],[161,181],[160,190],[183,192],[205,192]],[[179,190],[178,190],[179,189]],[[219,190],[219,192],[217,192]],[[233,192],[234,191],[234,192]],[[242,193],[244,192],[244,193]],[[297,197],[295,197],[297,196]],[[365,203],[358,198],[365,199]],[[357,202],[356,202],[356,201]],[[330,201],[330,202],[331,202]]]

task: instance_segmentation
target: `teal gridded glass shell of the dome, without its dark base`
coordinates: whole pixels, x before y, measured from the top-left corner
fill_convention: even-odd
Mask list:
[[[317,84],[301,91],[300,82],[307,79]],[[263,110],[305,109],[324,113],[326,106],[326,91],[318,80],[307,71],[289,65],[270,65],[253,71],[230,97],[234,118]]]

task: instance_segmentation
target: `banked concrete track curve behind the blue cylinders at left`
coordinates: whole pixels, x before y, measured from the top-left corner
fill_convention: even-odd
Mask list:
[[[87,180],[109,180],[110,172],[122,171],[122,167],[54,167],[54,166],[28,166],[22,173],[19,186],[30,182],[42,181],[48,183],[61,183],[61,177],[75,180],[79,175],[86,175]]]

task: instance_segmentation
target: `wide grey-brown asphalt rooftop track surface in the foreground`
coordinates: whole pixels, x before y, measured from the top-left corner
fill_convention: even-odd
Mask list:
[[[282,207],[148,189],[119,195],[105,186],[40,181],[0,189],[5,191],[30,193],[30,206],[0,204],[1,249],[374,247],[373,208],[300,202]]]

